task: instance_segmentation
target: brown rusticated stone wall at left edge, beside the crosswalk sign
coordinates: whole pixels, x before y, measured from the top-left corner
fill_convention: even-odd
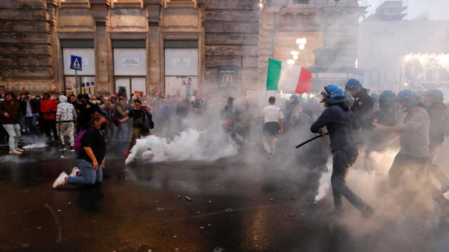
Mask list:
[[[0,90],[55,88],[49,21],[45,0],[0,1]]]

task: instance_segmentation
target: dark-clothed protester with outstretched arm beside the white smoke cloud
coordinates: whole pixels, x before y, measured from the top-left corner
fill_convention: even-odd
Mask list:
[[[124,155],[129,155],[136,139],[151,135],[150,130],[154,127],[154,123],[152,121],[152,113],[149,113],[149,111],[152,111],[152,108],[146,105],[142,106],[140,99],[135,99],[134,109],[129,111],[128,116],[120,120],[120,123],[125,123],[130,118],[133,118],[133,137],[131,137],[128,151]]]

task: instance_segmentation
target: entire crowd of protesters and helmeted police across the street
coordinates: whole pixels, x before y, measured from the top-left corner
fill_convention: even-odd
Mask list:
[[[253,113],[258,110],[255,104],[242,102],[236,106],[234,97],[220,97],[219,101],[202,99],[196,91],[183,98],[135,92],[130,99],[119,94],[66,97],[64,92],[58,97],[43,94],[41,99],[27,92],[20,97],[6,92],[0,95],[3,126],[0,135],[2,141],[8,139],[11,155],[23,153],[19,148],[22,133],[29,134],[32,139],[45,136],[48,144],[60,145],[60,151],[79,151],[78,167],[70,175],[60,174],[53,183],[53,187],[58,187],[65,183],[101,181],[107,142],[129,141],[124,153],[129,155],[136,140],[154,134],[154,129],[162,136],[173,136],[185,130],[182,122],[188,117],[200,120],[206,114],[217,114],[224,132],[238,144],[249,138],[250,132],[255,132],[252,125],[260,125],[261,146],[269,160],[275,160],[276,146],[284,141],[281,135],[307,127],[330,139],[335,215],[342,214],[342,197],[345,197],[366,217],[373,215],[374,209],[347,185],[349,168],[356,162],[359,152],[365,151],[364,169],[373,170],[372,153],[390,148],[398,136],[400,151],[389,169],[391,187],[413,181],[443,207],[449,206],[449,201],[443,197],[449,190],[448,176],[434,164],[449,125],[449,109],[443,103],[440,90],[427,90],[421,96],[413,90],[402,90],[397,95],[385,90],[375,95],[358,80],[350,79],[344,89],[327,85],[315,97],[293,94],[284,98],[269,97],[268,106],[259,110],[262,120]],[[281,106],[276,106],[276,99],[281,100],[278,102]],[[208,106],[208,102],[219,104],[220,109],[212,109],[216,106]],[[320,102],[324,105],[321,109]],[[79,146],[76,146],[77,141]],[[325,154],[319,159],[326,164],[330,153],[324,148],[321,150]],[[310,155],[320,154],[314,151]],[[441,188],[431,186],[431,177],[441,183]]]

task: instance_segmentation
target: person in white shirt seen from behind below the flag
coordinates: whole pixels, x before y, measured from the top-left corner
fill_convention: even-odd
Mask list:
[[[262,142],[265,151],[267,151],[270,159],[274,158],[276,153],[276,144],[279,134],[283,134],[283,113],[281,109],[274,106],[276,98],[269,97],[269,106],[264,107],[264,127]]]

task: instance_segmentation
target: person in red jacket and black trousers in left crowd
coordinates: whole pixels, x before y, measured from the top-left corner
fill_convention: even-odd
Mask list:
[[[50,94],[43,94],[43,100],[41,101],[41,113],[43,114],[43,130],[45,131],[48,142],[51,142],[51,132],[53,131],[53,138],[56,142],[58,139],[58,130],[56,129],[56,109],[58,104],[55,100],[51,99]]]

